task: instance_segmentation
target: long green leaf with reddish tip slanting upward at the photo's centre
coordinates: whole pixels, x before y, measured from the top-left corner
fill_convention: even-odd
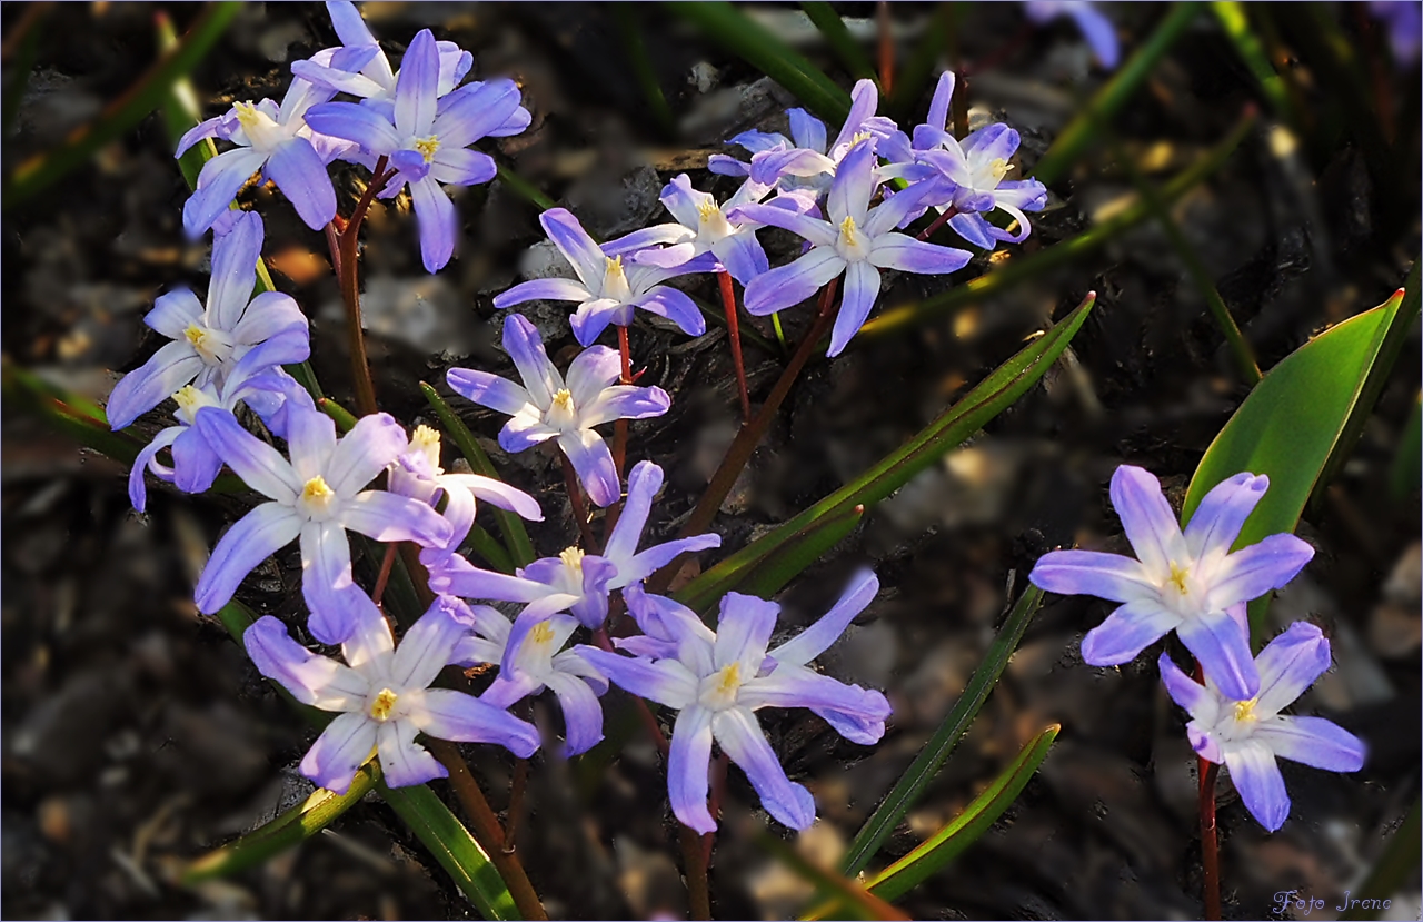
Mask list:
[[[808,534],[817,524],[845,516],[857,505],[868,507],[879,502],[904,487],[909,478],[980,430],[1036,384],[1081,329],[1094,300],[1096,295],[1089,295],[1076,310],[1036,337],[939,418],[865,474],[706,571],[683,586],[676,596],[717,599],[746,579],[771,553],[797,536]]]

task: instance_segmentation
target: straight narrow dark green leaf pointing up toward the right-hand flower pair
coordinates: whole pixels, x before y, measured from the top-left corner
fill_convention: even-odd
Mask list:
[[[969,724],[973,723],[973,717],[983,707],[983,701],[988,700],[993,686],[998,684],[998,677],[1007,667],[1009,657],[1017,649],[1017,643],[1023,639],[1023,632],[1027,630],[1027,623],[1033,619],[1042,600],[1043,590],[1037,586],[1030,586],[1017,599],[1017,605],[1009,612],[1007,620],[1003,622],[998,636],[983,656],[983,662],[973,673],[973,677],[969,679],[963,694],[955,701],[948,717],[933,731],[933,736],[929,737],[924,748],[919,750],[914,764],[899,777],[894,790],[885,795],[879,807],[875,808],[875,812],[865,821],[859,832],[855,834],[841,865],[847,876],[859,874],[869,864],[869,859],[875,857],[884,841],[889,838],[894,828],[899,825],[904,815],[909,812],[909,808],[914,807],[925,788],[929,787],[929,781],[938,774],[939,767],[943,765],[943,760],[958,746],[959,738],[963,737]]]

